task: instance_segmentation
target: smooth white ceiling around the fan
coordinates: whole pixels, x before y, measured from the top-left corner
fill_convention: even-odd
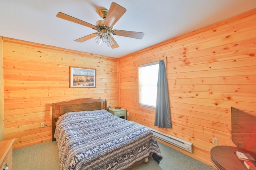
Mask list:
[[[56,17],[95,25],[98,9],[112,2],[127,10],[113,28],[144,32],[142,40],[113,36],[115,49],[94,38],[75,42],[96,31]],[[0,0],[0,36],[119,58],[254,8],[256,0]]]

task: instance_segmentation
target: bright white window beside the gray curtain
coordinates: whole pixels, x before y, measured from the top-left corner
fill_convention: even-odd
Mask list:
[[[139,66],[139,105],[156,107],[159,62]]]

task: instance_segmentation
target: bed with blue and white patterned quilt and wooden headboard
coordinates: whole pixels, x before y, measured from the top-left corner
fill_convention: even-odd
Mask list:
[[[60,169],[124,170],[162,154],[152,132],[107,111],[106,99],[52,103],[52,140]]]

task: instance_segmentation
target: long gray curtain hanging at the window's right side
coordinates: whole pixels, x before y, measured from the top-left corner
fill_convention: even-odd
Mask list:
[[[167,75],[164,60],[159,62],[155,126],[172,128],[168,98]]]

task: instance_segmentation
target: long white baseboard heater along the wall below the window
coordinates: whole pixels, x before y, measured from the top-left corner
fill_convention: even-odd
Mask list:
[[[134,122],[134,121],[132,121],[132,122]],[[134,122],[134,123],[137,123],[137,122]],[[144,125],[142,125],[142,126],[144,126]],[[145,127],[147,127],[147,126],[145,126]],[[191,152],[191,153],[193,152],[193,144],[192,143],[187,142],[186,140],[182,140],[180,138],[177,138],[175,136],[165,134],[163,132],[160,132],[159,130],[156,130],[156,129],[153,129],[153,128],[150,128],[150,127],[147,127],[147,128],[149,128],[153,132],[153,134],[154,134],[154,136],[156,136],[156,138],[164,140],[165,142],[168,142],[168,143],[170,143],[174,146],[182,148],[182,149],[184,149],[188,152]]]

